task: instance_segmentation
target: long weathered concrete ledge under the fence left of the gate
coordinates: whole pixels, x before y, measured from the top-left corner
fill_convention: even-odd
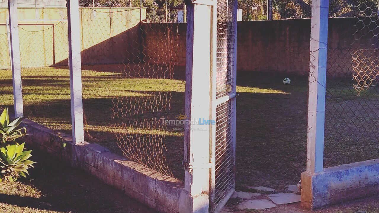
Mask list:
[[[103,182],[160,212],[179,213],[185,194],[183,183],[142,164],[110,152],[98,144],[74,144],[72,137],[25,119],[27,144],[94,175]],[[208,200],[208,199],[207,199]],[[182,208],[182,209],[180,209]]]

